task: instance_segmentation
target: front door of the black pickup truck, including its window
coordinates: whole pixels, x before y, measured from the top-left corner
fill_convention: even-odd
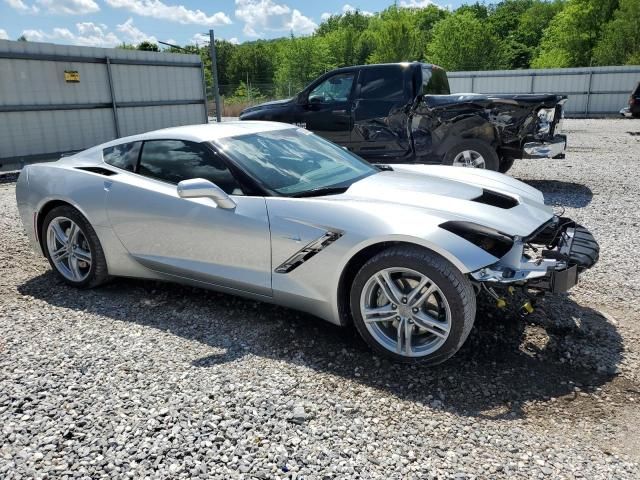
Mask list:
[[[351,142],[351,99],[357,71],[337,72],[312,86],[296,123],[334,143]]]

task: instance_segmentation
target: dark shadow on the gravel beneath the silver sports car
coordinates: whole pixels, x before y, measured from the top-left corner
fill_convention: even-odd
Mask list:
[[[193,359],[192,365],[203,374],[208,374],[207,368],[255,355],[359,382],[406,401],[483,418],[521,418],[523,402],[559,396],[579,399],[576,387],[592,392],[615,377],[622,352],[621,337],[611,323],[565,296],[539,302],[526,321],[481,303],[476,324],[458,354],[426,367],[373,356],[354,329],[197,288],[121,279],[80,293],[48,272],[18,290],[51,305],[223,349],[222,354]],[[571,408],[566,405],[545,403],[540,413],[562,415],[558,407],[564,412]],[[583,415],[584,407],[577,401],[573,408]]]

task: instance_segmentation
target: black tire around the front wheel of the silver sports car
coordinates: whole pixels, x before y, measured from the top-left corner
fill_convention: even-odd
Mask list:
[[[444,294],[451,312],[451,325],[448,337],[437,350],[419,357],[401,355],[383,346],[368,330],[360,309],[363,290],[375,273],[387,268],[407,268],[426,275]],[[367,261],[356,274],[349,301],[354,324],[364,341],[377,354],[402,363],[435,365],[449,359],[469,336],[476,316],[476,296],[471,282],[441,256],[414,246],[390,247]]]

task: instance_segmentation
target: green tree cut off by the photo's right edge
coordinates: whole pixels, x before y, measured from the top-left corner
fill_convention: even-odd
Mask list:
[[[640,0],[620,0],[593,52],[597,65],[640,64]]]

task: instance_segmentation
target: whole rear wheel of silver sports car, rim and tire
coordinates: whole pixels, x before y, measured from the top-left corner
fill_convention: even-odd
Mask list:
[[[64,282],[91,288],[108,279],[98,236],[75,208],[61,206],[51,210],[43,222],[42,239],[51,268]]]

